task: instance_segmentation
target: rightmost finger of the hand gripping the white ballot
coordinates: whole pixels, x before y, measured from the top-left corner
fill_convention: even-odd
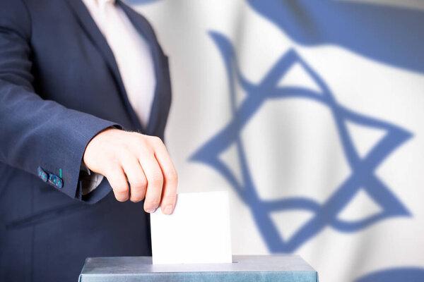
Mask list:
[[[162,141],[155,145],[155,158],[158,161],[163,175],[163,191],[160,208],[163,214],[172,214],[177,200],[178,176],[170,155]]]

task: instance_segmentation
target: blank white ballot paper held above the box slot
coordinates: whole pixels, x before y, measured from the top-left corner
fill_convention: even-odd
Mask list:
[[[153,264],[231,263],[229,205],[227,191],[183,193],[151,214]]]

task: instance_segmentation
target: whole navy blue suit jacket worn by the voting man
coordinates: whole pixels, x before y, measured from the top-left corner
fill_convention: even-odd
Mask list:
[[[81,0],[0,0],[0,281],[77,281],[86,257],[151,255],[143,202],[117,202],[106,178],[81,195],[93,136],[115,125],[163,138],[170,108],[167,56],[147,20],[117,5],[151,44],[148,128]],[[37,177],[39,167],[63,187]]]

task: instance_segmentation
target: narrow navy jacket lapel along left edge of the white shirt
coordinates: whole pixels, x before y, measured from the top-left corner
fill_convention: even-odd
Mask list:
[[[131,117],[131,121],[133,122],[134,127],[137,130],[141,131],[142,133],[145,133],[146,130],[143,129],[139,121],[139,118],[137,118],[136,113],[134,112],[134,109],[132,109],[131,104],[129,103],[129,99],[126,96],[124,83],[122,82],[122,78],[119,73],[117,62],[114,59],[112,49],[110,49],[109,44],[107,44],[107,40],[102,35],[102,32],[100,32],[98,26],[95,24],[95,21],[90,16],[88,9],[86,8],[86,6],[83,4],[81,0],[66,0],[66,1],[71,7],[71,10],[73,11],[74,16],[76,16],[81,27],[83,27],[83,30],[86,32],[86,34],[91,39],[95,47],[98,49],[100,54],[102,54],[103,58],[105,59],[107,66],[109,67],[112,73],[114,81],[116,82],[119,88],[119,94],[121,95],[121,98],[124,102],[124,105],[126,106],[129,116]]]

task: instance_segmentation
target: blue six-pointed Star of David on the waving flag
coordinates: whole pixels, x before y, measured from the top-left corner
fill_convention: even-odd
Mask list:
[[[294,49],[287,51],[264,75],[261,82],[254,84],[243,77],[237,65],[235,51],[230,41],[218,32],[210,35],[223,58],[230,88],[232,120],[216,135],[213,135],[190,158],[207,164],[220,172],[230,183],[237,195],[252,210],[262,238],[270,252],[293,252],[298,247],[314,238],[326,226],[331,226],[341,232],[355,232],[367,226],[393,216],[411,216],[404,204],[389,190],[376,174],[376,168],[394,152],[402,143],[411,137],[411,133],[376,118],[358,114],[346,106],[338,104],[334,94],[324,80],[297,54]],[[288,72],[294,63],[300,63],[308,75],[319,85],[321,93],[302,87],[278,87],[277,82]],[[247,98],[236,106],[235,83],[240,83],[247,93]],[[252,180],[247,164],[245,147],[240,138],[240,130],[264,104],[266,99],[285,99],[297,97],[310,99],[328,106],[336,122],[336,128],[343,145],[344,155],[351,168],[351,174],[343,180],[335,192],[322,204],[307,197],[287,197],[278,200],[261,200]],[[372,147],[364,157],[358,154],[351,135],[346,128],[346,121],[368,128],[385,130],[386,135]],[[219,156],[231,145],[236,145],[237,157],[240,161],[242,182],[235,177],[230,167],[219,159]],[[358,190],[364,189],[367,195],[381,207],[381,212],[359,220],[341,220],[338,214],[351,202]],[[290,238],[281,238],[278,228],[271,219],[272,212],[289,210],[306,210],[314,214],[309,221],[301,226]]]

